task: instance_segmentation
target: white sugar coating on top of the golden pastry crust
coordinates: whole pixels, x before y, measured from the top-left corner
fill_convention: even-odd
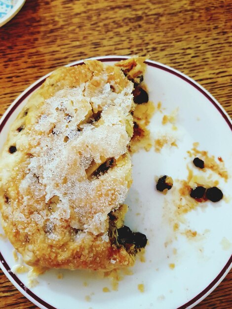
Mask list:
[[[30,159],[19,184],[20,204],[12,201],[17,211],[8,214],[22,221],[22,227],[35,223],[48,238],[59,240],[59,226],[72,217],[75,229],[95,235],[107,231],[107,214],[128,191],[128,171],[119,166],[109,177],[88,179],[86,169],[127,153],[126,117],[133,103],[130,81],[116,93],[107,80],[103,70],[98,87],[93,88],[92,80],[64,87],[39,107],[28,135]],[[101,114],[95,121],[97,111]],[[102,240],[109,241],[108,235]]]

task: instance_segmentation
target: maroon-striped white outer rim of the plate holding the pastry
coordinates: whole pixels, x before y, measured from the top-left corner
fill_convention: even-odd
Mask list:
[[[23,0],[23,3],[25,0]],[[99,60],[102,62],[117,62],[124,59],[129,59],[132,56],[117,56],[117,55],[109,55],[109,56],[98,56],[98,57],[90,57],[86,59],[77,60],[75,62],[72,62],[70,64],[65,65],[65,67],[71,67],[76,65],[81,65],[84,63],[85,60]],[[176,77],[179,77],[183,79],[184,81],[191,84],[196,90],[198,90],[202,95],[204,95],[210,103],[213,104],[213,106],[217,109],[217,111],[221,114],[221,116],[224,118],[224,120],[229,125],[231,131],[232,131],[232,120],[231,117],[227,114],[227,112],[224,110],[224,108],[219,104],[219,102],[204,88],[202,87],[198,82],[194,81],[191,77],[188,77],[187,75],[183,74],[182,72],[173,69],[169,66],[166,66],[164,64],[161,64],[159,62],[149,60],[147,59],[145,61],[147,65],[150,65],[152,67],[155,67],[157,69],[166,71],[172,75],[175,75]],[[8,109],[5,111],[3,116],[0,119],[0,133],[5,126],[6,122],[8,121],[9,117],[12,115],[12,113],[15,111],[15,109],[34,91],[36,90],[43,82],[44,80],[49,77],[52,74],[53,71],[50,73],[44,75],[43,77],[40,77],[38,80],[36,80],[33,84],[31,84],[29,87],[27,87],[14,101],[13,103],[8,107]],[[6,275],[6,277],[10,280],[10,282],[26,297],[28,298],[32,303],[34,303],[36,306],[42,308],[42,309],[56,309],[55,307],[51,306],[50,304],[46,303],[44,300],[39,298],[35,293],[33,293],[30,289],[25,288],[23,282],[18,278],[16,274],[10,271],[10,268],[3,258],[1,252],[0,252],[0,268]],[[223,267],[223,269],[219,272],[219,274],[216,276],[214,280],[209,283],[209,285],[203,289],[200,293],[198,293],[195,297],[193,297],[190,301],[185,303],[184,305],[181,305],[177,309],[191,309],[194,306],[196,306],[198,303],[200,303],[203,299],[205,299],[220,283],[221,281],[226,277],[226,275],[229,273],[229,271],[232,269],[232,255],[229,258],[226,265]],[[24,287],[24,288],[23,288]]]

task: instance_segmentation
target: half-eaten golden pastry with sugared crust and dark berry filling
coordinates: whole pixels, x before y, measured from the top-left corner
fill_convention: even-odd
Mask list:
[[[1,221],[28,265],[111,270],[146,245],[124,226],[123,204],[143,61],[60,68],[13,122],[0,154]]]

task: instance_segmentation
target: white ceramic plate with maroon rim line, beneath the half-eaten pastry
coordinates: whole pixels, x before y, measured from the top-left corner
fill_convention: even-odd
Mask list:
[[[109,64],[126,57],[97,58]],[[71,65],[82,63],[78,61]],[[9,280],[40,308],[47,309],[184,309],[192,308],[205,298],[226,276],[232,266],[232,207],[230,207],[231,178],[219,179],[225,199],[207,202],[184,217],[179,231],[173,232],[172,190],[163,195],[155,191],[155,176],[170,175],[187,178],[186,164],[192,164],[187,151],[193,142],[217,158],[221,156],[228,171],[232,170],[232,122],[217,101],[189,77],[153,61],[147,61],[145,81],[150,99],[165,108],[156,112],[150,129],[153,134],[176,134],[177,147],[164,147],[160,153],[141,151],[133,155],[133,185],[127,203],[130,210],[126,224],[145,232],[149,238],[146,262],[136,262],[132,275],[125,275],[118,291],[111,290],[109,279],[83,270],[50,270],[39,276],[39,285],[25,288],[26,274],[13,274],[13,247],[0,240],[0,266]],[[20,95],[0,122],[0,148],[10,124],[25,105],[30,94],[46,77],[42,77]],[[162,116],[179,108],[177,131],[161,124]],[[174,132],[174,133],[173,133]],[[175,183],[174,183],[175,186]],[[174,190],[174,189],[173,189]],[[168,207],[167,207],[167,200]],[[165,206],[166,205],[166,206]],[[133,206],[133,207],[132,207]],[[137,213],[140,213],[138,215]],[[137,214],[137,215],[136,215]],[[171,221],[171,220],[174,221]],[[197,232],[189,239],[185,230]],[[170,264],[175,268],[171,269]],[[62,272],[63,279],[57,274]],[[84,283],[85,282],[85,283]],[[145,291],[138,290],[144,284]],[[103,287],[111,292],[104,293]]]

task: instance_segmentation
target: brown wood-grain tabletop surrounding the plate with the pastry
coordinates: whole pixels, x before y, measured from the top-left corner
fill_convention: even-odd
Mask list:
[[[59,66],[131,54],[192,77],[232,116],[231,32],[231,0],[27,0],[0,28],[0,116]],[[0,308],[38,307],[0,271]],[[196,308],[232,308],[232,271]]]

